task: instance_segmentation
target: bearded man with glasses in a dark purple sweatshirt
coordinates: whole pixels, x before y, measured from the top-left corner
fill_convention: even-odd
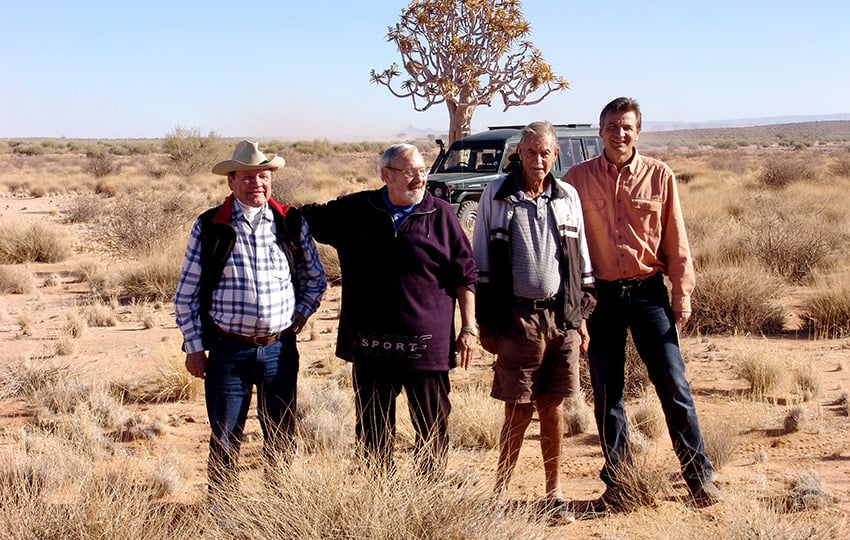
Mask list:
[[[439,476],[448,452],[449,369],[466,368],[478,346],[478,272],[451,206],[425,189],[428,168],[419,150],[390,146],[378,172],[382,188],[302,211],[313,238],[339,255],[336,354],[353,362],[360,456],[392,468],[395,402],[403,389],[417,470]]]

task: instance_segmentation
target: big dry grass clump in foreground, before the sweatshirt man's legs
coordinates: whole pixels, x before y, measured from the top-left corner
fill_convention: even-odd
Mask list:
[[[501,509],[490,486],[423,479],[399,464],[395,474],[341,467],[338,454],[296,459],[278,469],[274,496],[257,504],[237,490],[223,493],[222,515],[246,538],[544,538],[547,522],[534,505]],[[367,516],[368,519],[364,519]]]

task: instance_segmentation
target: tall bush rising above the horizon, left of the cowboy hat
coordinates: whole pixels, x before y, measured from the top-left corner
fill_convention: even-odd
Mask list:
[[[215,132],[206,137],[197,128],[177,126],[165,135],[162,150],[175,174],[184,178],[209,171],[227,153],[227,144]]]

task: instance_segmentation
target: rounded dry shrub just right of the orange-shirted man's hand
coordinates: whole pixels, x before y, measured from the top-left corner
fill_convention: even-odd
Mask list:
[[[697,275],[688,330],[699,334],[774,334],[784,315],[782,287],[758,268],[710,267]]]

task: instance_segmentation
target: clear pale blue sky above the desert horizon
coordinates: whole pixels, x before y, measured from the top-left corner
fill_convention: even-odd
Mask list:
[[[369,83],[405,0],[0,0],[0,137],[391,139],[443,131]],[[530,39],[572,89],[490,124],[596,123],[627,95],[646,121],[850,113],[850,2],[526,0]]]

